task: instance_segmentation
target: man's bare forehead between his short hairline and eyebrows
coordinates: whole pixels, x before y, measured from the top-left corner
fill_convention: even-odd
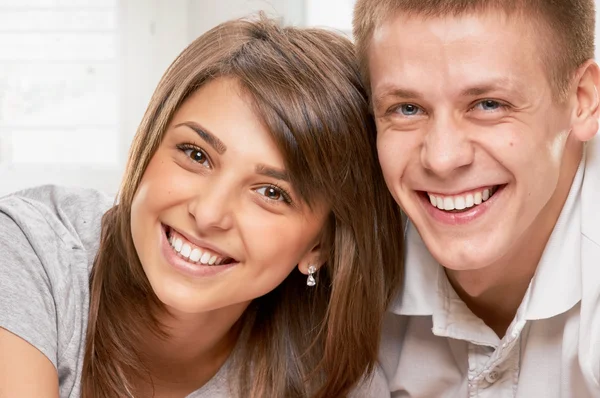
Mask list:
[[[402,23],[404,20],[408,22]],[[515,30],[496,29],[486,34],[490,31],[487,22],[477,18],[443,20],[441,27],[435,27],[435,18],[388,20],[376,32],[368,51],[374,100],[386,93],[416,94],[439,82],[467,95],[499,89],[519,91],[529,77],[543,72],[536,41],[527,41]],[[497,23],[497,28],[502,26]],[[454,29],[453,37],[444,36]]]

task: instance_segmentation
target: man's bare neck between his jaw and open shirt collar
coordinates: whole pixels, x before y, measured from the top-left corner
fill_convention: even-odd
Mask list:
[[[523,301],[569,195],[583,147],[571,149],[565,151],[565,168],[555,194],[510,253],[482,269],[446,268],[448,280],[458,296],[499,337],[504,336]]]

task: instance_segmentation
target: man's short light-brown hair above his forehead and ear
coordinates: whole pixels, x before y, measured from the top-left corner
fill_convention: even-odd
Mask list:
[[[383,23],[398,14],[429,18],[490,10],[522,16],[550,32],[542,41],[545,48],[540,49],[540,59],[548,65],[547,77],[555,97],[564,98],[573,73],[594,58],[594,0],[357,0],[354,39],[367,89],[370,91],[369,44],[374,30]]]

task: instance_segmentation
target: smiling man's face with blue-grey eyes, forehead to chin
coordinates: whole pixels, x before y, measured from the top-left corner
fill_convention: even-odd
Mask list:
[[[492,13],[400,15],[373,35],[381,167],[450,269],[480,269],[523,247],[570,186],[571,111],[552,99],[537,35]]]

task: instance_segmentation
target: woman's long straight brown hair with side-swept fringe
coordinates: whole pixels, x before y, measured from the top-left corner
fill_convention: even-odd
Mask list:
[[[168,338],[164,308],[132,243],[131,204],[178,107],[203,84],[234,77],[253,101],[309,205],[326,201],[324,266],[314,288],[294,270],[240,320],[229,368],[239,397],[344,397],[374,367],[382,317],[402,273],[400,211],[379,170],[375,130],[350,41],[282,28],[261,16],[217,26],[160,81],[137,131],[119,195],[102,222],[91,274],[83,396],[132,397],[148,378],[145,330]]]

